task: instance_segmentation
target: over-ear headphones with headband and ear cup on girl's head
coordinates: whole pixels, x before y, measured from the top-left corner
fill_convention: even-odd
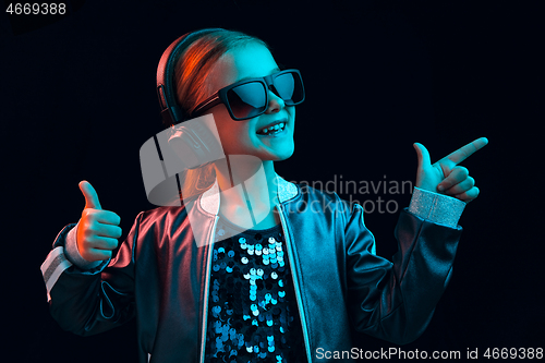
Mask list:
[[[221,158],[223,149],[219,143],[219,136],[215,135],[204,122],[197,122],[199,118],[192,120],[194,122],[187,122],[189,116],[175,99],[174,66],[180,55],[191,44],[203,35],[217,31],[225,29],[206,28],[182,35],[165,50],[157,68],[157,97],[162,123],[166,128],[172,128],[168,144],[187,169],[195,169]],[[179,125],[180,123],[183,124]],[[216,131],[215,123],[208,126],[213,126]]]

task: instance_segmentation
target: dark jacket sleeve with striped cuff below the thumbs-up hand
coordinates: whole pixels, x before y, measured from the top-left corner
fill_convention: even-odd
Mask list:
[[[134,251],[138,215],[116,258],[84,269],[66,258],[66,226],[41,265],[52,317],[64,330],[89,336],[120,326],[134,316]]]

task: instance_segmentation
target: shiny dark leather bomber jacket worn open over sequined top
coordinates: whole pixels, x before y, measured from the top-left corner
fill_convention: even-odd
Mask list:
[[[396,343],[416,339],[447,285],[461,228],[402,210],[392,264],[375,254],[361,206],[279,180],[276,207],[308,361],[327,361],[316,358],[319,348],[349,351],[351,328]],[[63,258],[74,225],[66,226],[52,266],[43,265],[60,326],[88,336],[136,316],[138,362],[203,362],[217,192],[216,184],[185,206],[141,213],[116,258],[90,270]]]

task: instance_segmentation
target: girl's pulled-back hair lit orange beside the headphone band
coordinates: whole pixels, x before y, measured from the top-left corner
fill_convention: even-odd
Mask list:
[[[270,47],[259,38],[237,31],[216,29],[201,36],[181,52],[174,66],[174,89],[177,101],[185,117],[191,116],[196,106],[211,95],[207,77],[216,61],[229,50],[258,43]],[[216,180],[214,165],[182,172],[181,192],[184,198],[203,193]]]

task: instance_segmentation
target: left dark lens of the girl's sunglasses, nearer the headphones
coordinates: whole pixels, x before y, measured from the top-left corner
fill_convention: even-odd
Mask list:
[[[229,89],[227,99],[233,116],[238,119],[253,118],[267,107],[265,87],[258,82],[250,82]]]

